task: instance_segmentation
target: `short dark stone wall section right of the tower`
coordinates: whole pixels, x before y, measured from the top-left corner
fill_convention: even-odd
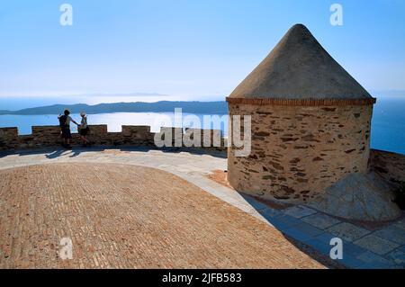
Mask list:
[[[394,184],[405,184],[404,155],[372,149],[370,151],[370,168]]]

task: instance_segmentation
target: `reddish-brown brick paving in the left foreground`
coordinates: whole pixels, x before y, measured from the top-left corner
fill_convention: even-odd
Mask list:
[[[0,170],[0,227],[2,268],[324,267],[274,227],[145,166]],[[73,259],[59,258],[61,238]]]

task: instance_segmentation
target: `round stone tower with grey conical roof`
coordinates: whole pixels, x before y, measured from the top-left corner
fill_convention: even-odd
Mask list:
[[[367,172],[375,99],[302,24],[227,102],[229,116],[251,116],[250,155],[229,147],[229,184],[238,191],[311,202],[344,175]]]

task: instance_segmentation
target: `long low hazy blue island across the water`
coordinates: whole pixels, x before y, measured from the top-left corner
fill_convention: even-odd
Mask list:
[[[161,101],[156,103],[99,103],[89,105],[86,103],[76,104],[52,104],[19,111],[0,110],[0,115],[17,114],[59,114],[64,110],[72,113],[86,112],[88,114],[107,112],[174,112],[175,108],[182,108],[182,112],[200,114],[225,114],[228,113],[228,105],[225,101],[220,102],[171,102]]]

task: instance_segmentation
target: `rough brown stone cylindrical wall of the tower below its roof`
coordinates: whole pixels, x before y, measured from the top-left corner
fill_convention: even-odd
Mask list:
[[[267,199],[311,202],[344,175],[367,172],[372,110],[229,103],[230,116],[252,119],[250,156],[229,148],[229,183]]]

